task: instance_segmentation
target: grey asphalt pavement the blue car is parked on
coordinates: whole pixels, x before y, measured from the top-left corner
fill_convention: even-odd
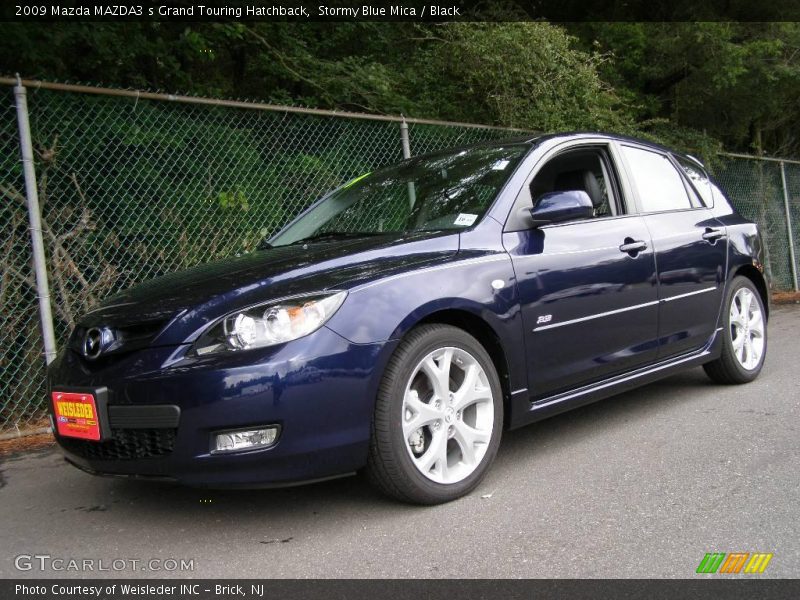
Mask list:
[[[739,576],[798,577],[800,307],[769,333],[754,383],[694,369],[506,432],[443,506],[359,477],[207,492],[92,477],[55,449],[6,457],[0,577],[685,578],[706,552],[770,552]]]

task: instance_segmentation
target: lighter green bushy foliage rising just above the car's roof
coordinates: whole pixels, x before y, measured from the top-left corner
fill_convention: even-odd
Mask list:
[[[630,128],[598,76],[603,57],[573,50],[558,27],[458,23],[437,33],[443,41],[430,51],[427,83],[458,82],[451,106],[463,105],[471,119],[543,131]]]

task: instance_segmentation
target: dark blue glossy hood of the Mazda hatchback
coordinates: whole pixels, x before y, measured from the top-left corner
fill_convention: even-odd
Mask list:
[[[457,251],[458,234],[452,232],[387,234],[258,250],[129,288],[87,313],[79,329],[155,325],[161,332],[154,342],[177,344],[192,330],[244,306],[346,289],[419,264],[446,260]]]

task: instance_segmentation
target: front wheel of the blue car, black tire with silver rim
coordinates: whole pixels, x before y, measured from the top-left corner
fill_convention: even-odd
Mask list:
[[[422,325],[406,335],[383,374],[367,477],[403,502],[455,500],[486,475],[502,429],[500,379],[483,346],[456,327]]]

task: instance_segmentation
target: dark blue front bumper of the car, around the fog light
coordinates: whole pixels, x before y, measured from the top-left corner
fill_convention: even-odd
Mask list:
[[[323,327],[275,348],[202,359],[181,358],[186,348],[171,346],[93,365],[65,350],[48,370],[50,389],[107,387],[110,439],[56,440],[85,471],[187,485],[258,487],[350,473],[366,464],[379,374],[393,347],[352,344]],[[174,418],[164,418],[165,407]],[[215,432],[272,425],[280,435],[268,448],[211,451]]]

